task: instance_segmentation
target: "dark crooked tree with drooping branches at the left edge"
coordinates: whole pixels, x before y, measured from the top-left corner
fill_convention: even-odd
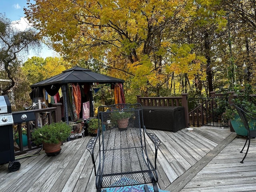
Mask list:
[[[6,95],[16,86],[21,62],[19,56],[29,48],[38,48],[40,42],[36,31],[28,28],[25,31],[16,29],[4,14],[0,14],[0,73],[7,81],[0,88],[0,94]]]

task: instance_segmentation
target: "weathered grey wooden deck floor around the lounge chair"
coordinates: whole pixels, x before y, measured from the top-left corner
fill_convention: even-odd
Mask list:
[[[245,139],[236,138],[228,128],[148,132],[154,132],[162,142],[157,160],[158,185],[162,190],[256,191],[256,139],[252,139],[249,153],[241,164],[244,154],[239,151]],[[90,138],[64,143],[57,156],[42,153],[21,159],[17,172],[9,173],[8,164],[1,165],[0,191],[96,192],[93,166],[86,150]],[[148,154],[153,157],[153,144],[149,139],[148,143],[152,149]]]

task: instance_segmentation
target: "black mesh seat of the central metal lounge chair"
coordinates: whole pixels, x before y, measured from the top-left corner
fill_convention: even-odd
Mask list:
[[[149,168],[141,148],[125,148],[105,151],[102,170],[102,187],[112,186],[121,178],[135,180],[135,184],[151,183]],[[121,186],[123,184],[120,183]],[[120,186],[118,185],[118,186]]]

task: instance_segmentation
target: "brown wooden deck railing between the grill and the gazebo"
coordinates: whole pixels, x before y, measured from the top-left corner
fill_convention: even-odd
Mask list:
[[[34,150],[40,147],[36,145],[32,146],[31,131],[33,128],[38,128],[38,125],[43,126],[46,122],[47,124],[51,124],[52,122],[61,121],[61,105],[62,104],[57,103],[57,104],[53,104],[54,107],[51,107],[51,108],[29,110],[29,113],[34,113],[36,118],[32,121],[30,119],[24,120],[24,122],[14,125],[14,126],[17,126],[17,132],[18,132],[18,138],[19,138],[17,145],[14,145],[15,155],[24,154],[30,150]],[[18,112],[13,112],[12,114],[22,116],[22,114],[24,114],[25,112],[28,112],[28,111],[18,111]],[[42,124],[40,124],[38,122],[38,117],[42,115],[45,115],[47,119],[42,120],[40,122]],[[22,128],[26,129],[26,136],[28,140],[28,146],[26,146],[26,148],[23,147]]]

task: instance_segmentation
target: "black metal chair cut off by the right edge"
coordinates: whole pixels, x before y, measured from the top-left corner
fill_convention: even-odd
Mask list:
[[[254,127],[250,128],[249,123],[248,123],[248,118],[249,118],[250,120],[256,120],[256,118],[254,118],[254,117],[256,117],[256,114],[254,114],[254,113],[252,113],[252,112],[246,110],[246,108],[244,108],[244,107],[243,107],[242,105],[240,105],[240,104],[231,104],[230,106],[231,106],[231,107],[234,106],[234,108],[237,110],[237,112],[238,112],[238,114],[239,114],[239,116],[240,116],[240,118],[241,118],[241,120],[242,120],[242,123],[244,124],[244,127],[246,128],[246,130],[247,130],[247,132],[248,132],[248,133],[247,133],[247,136],[246,136],[246,141],[245,141],[244,147],[243,147],[242,150],[240,151],[240,153],[243,152],[243,150],[244,150],[244,148],[245,148],[245,146],[246,146],[246,143],[247,143],[247,141],[248,141],[248,146],[247,146],[246,153],[245,153],[244,158],[242,159],[242,161],[240,161],[240,163],[244,163],[244,159],[245,159],[245,157],[246,157],[246,155],[247,155],[247,153],[248,153],[249,147],[250,147],[250,140],[251,140],[251,137],[252,137],[252,138],[255,138],[255,137],[256,137],[256,127],[255,127],[255,128],[254,128]],[[254,116],[254,117],[253,117],[253,116]]]

